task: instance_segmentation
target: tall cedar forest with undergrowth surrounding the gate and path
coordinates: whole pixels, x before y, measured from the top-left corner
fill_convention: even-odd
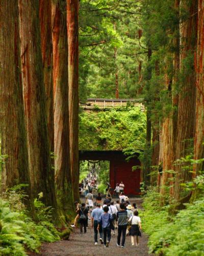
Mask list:
[[[1,0],[0,84],[0,255],[68,238],[87,98],[143,99],[144,143],[131,152],[150,252],[203,255],[203,0]],[[150,210],[163,230],[152,232]],[[176,225],[196,215],[191,251]]]

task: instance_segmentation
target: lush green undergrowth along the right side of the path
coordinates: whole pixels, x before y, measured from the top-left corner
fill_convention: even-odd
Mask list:
[[[161,207],[159,194],[151,190],[145,195],[141,213],[143,229],[149,235],[149,253],[157,255],[204,255],[204,197],[176,216],[169,216],[169,206]]]

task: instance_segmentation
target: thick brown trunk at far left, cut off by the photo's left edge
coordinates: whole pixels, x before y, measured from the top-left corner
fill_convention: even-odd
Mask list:
[[[0,129],[1,154],[8,155],[2,164],[1,190],[18,184],[28,184],[27,135],[25,130],[22,81],[20,73],[20,38],[18,3],[3,0],[0,6]]]

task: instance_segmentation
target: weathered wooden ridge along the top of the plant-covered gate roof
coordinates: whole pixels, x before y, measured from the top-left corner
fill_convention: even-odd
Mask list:
[[[141,111],[145,110],[144,99],[99,99],[89,98],[86,103],[80,102],[84,110],[108,110],[112,108],[125,108],[126,106],[137,106]]]

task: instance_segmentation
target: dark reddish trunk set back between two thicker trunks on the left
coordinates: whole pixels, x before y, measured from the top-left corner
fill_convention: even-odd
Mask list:
[[[40,31],[49,145],[54,152],[52,0],[40,0]]]

